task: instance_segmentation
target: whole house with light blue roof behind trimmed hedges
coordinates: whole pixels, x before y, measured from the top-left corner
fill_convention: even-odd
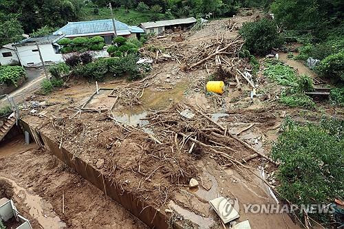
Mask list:
[[[115,20],[116,32],[118,36],[137,36],[144,33],[138,26],[130,26]],[[56,30],[54,35],[64,35],[65,38],[74,39],[76,37],[103,36],[106,44],[111,44],[114,39],[114,25],[112,19],[96,21],[68,22],[63,28]]]

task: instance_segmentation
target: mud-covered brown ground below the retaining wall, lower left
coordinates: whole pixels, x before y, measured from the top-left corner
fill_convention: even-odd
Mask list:
[[[12,190],[3,196],[14,200],[35,229],[147,228],[54,155],[24,144],[21,136],[0,146],[0,186]]]

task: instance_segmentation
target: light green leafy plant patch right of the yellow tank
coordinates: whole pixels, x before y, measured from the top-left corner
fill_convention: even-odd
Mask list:
[[[275,60],[268,60],[265,65],[264,75],[268,76],[270,80],[283,86],[297,85],[297,74],[292,67]]]

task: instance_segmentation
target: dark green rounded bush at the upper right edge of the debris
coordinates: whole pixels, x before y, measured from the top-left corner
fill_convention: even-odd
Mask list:
[[[275,21],[268,19],[244,23],[239,33],[245,40],[246,49],[252,54],[268,54],[273,47],[283,44]]]

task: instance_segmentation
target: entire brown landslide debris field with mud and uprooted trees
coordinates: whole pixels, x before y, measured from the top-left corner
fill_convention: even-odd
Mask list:
[[[253,66],[238,56],[244,42],[237,30],[257,17],[210,21],[200,30],[154,37],[140,50],[154,61],[146,78],[98,82],[109,90],[90,101],[95,83],[70,78],[66,88],[30,96],[28,102],[40,106],[22,119],[123,193],[133,193],[165,214],[170,226],[223,228],[208,201],[224,196],[237,198],[239,204],[275,204],[269,187],[278,182],[261,179],[258,168],[267,174],[276,170],[268,153],[283,119],[321,116],[280,105],[281,86],[261,73],[264,66],[255,78],[244,74]],[[208,80],[225,80],[224,94],[206,92]],[[257,96],[251,98],[251,91]],[[328,115],[343,116],[340,109],[323,102],[319,106]],[[31,146],[0,160],[1,178],[12,182],[14,193],[21,186],[43,199],[43,212],[50,212],[45,214],[57,223],[52,228],[146,228],[47,151]],[[191,178],[199,182],[197,188],[189,188]],[[30,212],[28,201],[14,199],[33,225],[46,223],[47,218]],[[262,217],[243,208],[239,215],[237,221],[248,219],[252,228],[299,228],[289,215]]]

